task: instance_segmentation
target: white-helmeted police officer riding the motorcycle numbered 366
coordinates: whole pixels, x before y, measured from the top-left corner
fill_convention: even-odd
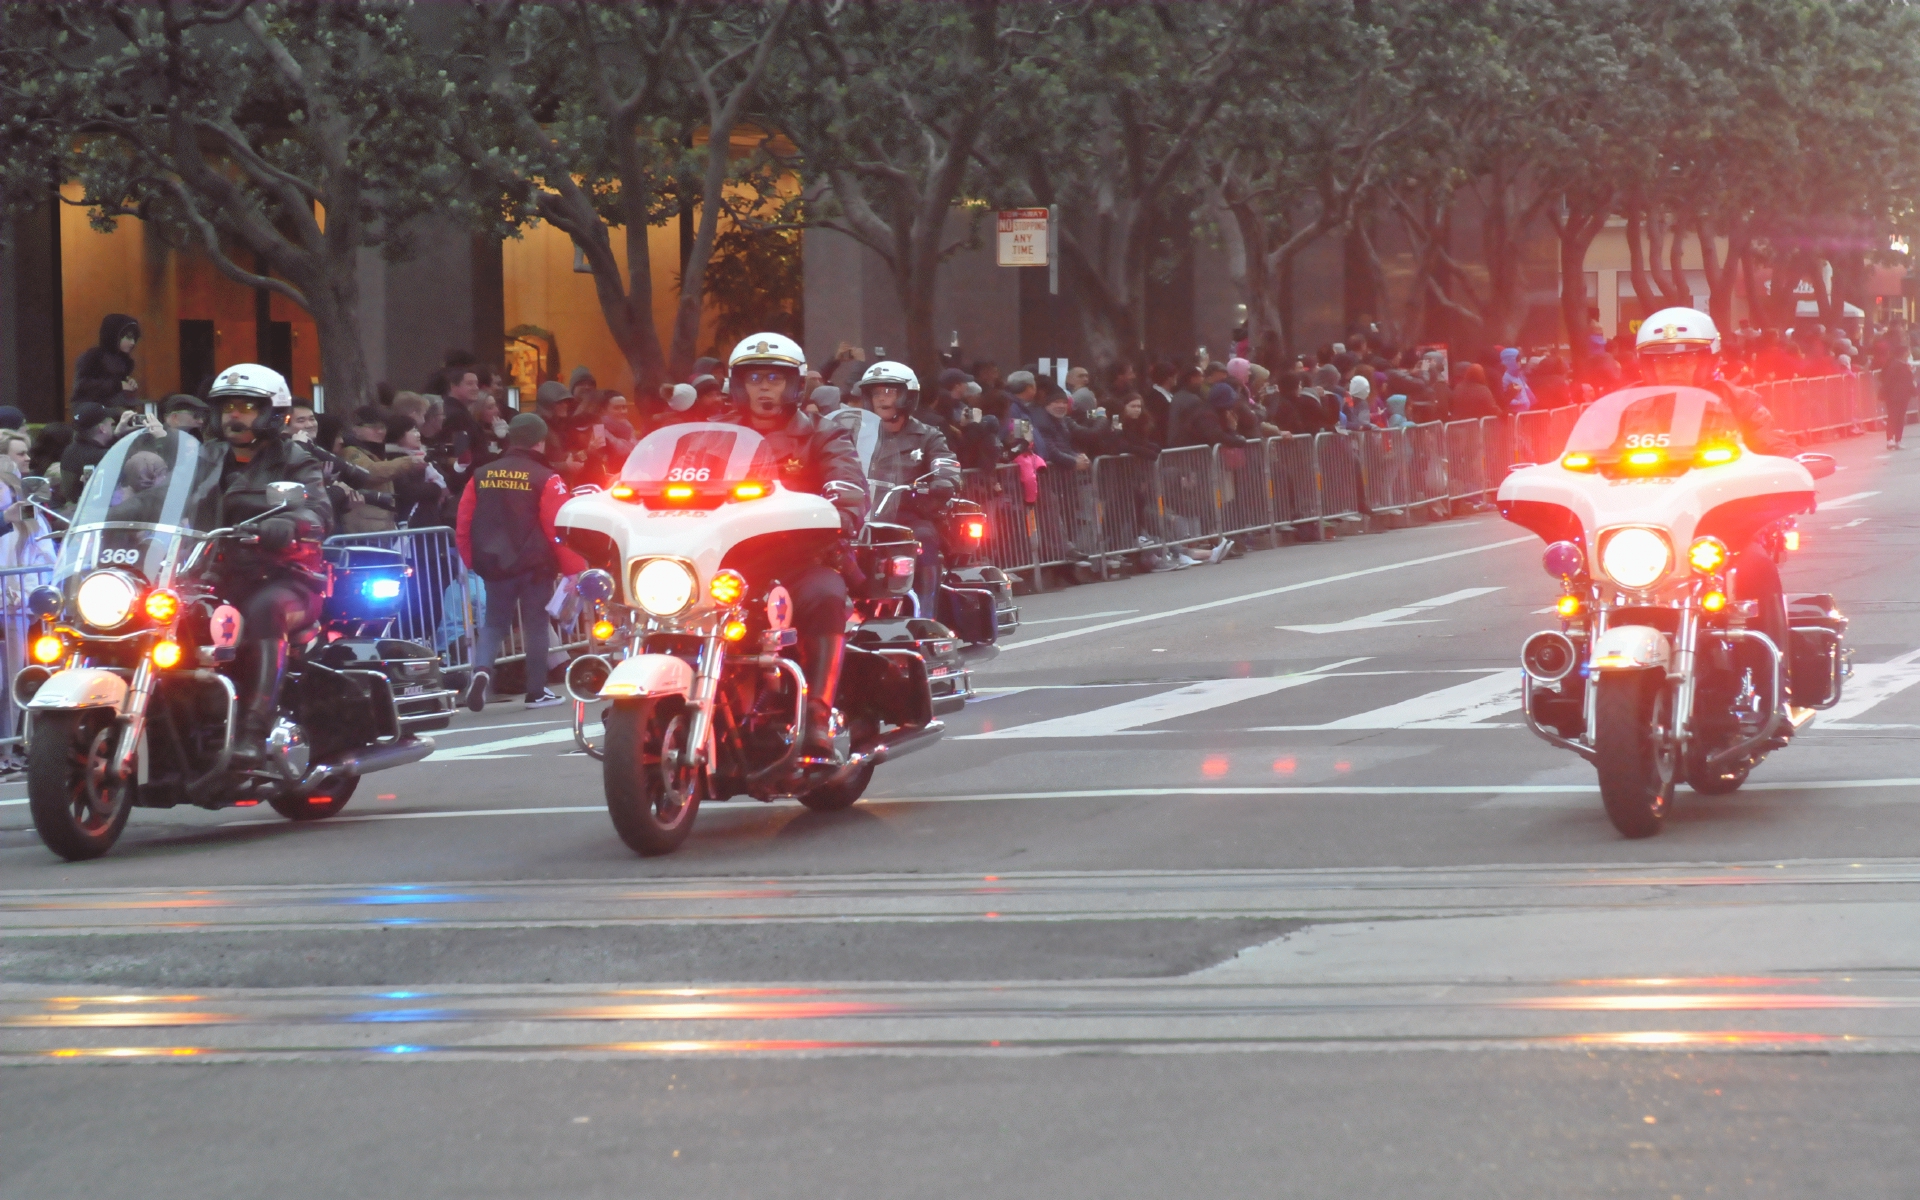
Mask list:
[[[839,509],[841,543],[866,524],[866,474],[847,430],[816,424],[801,413],[806,351],[781,334],[753,334],[728,357],[724,420],[745,424],[762,438],[780,465],[780,484],[793,492],[824,495]],[[833,760],[833,693],[839,687],[841,651],[847,643],[847,580],[833,564],[831,547],[778,549],[743,563],[755,584],[778,578],[793,597],[793,628],[801,637],[801,670],[806,674],[806,749]]]

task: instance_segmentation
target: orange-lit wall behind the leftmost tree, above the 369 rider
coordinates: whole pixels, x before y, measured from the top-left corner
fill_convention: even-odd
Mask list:
[[[79,184],[61,188],[69,202]],[[246,257],[236,259],[242,265]],[[221,275],[200,252],[175,250],[144,221],[121,217],[113,232],[98,232],[84,209],[60,211],[60,288],[65,323],[65,384],[73,392],[73,361],[100,338],[100,319],[127,313],[140,321],[134,378],[142,399],[161,399],[190,390],[200,380],[180,378],[180,321],[213,321],[213,369],[248,363],[259,348],[253,323],[253,288]],[[311,394],[321,372],[321,342],[313,319],[284,296],[269,301],[269,321],[286,321],[294,334],[296,396]]]

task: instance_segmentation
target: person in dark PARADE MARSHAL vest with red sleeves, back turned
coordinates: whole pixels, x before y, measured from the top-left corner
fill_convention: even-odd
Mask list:
[[[547,467],[541,447],[547,422],[520,413],[507,424],[507,453],[474,472],[461,493],[455,538],[467,570],[486,580],[486,624],[467,684],[467,707],[486,708],[493,659],[520,614],[526,643],[526,707],[563,703],[547,691],[547,601],[557,574],[580,574],[586,559],[561,545],[553,516],[566,503],[566,484]]]

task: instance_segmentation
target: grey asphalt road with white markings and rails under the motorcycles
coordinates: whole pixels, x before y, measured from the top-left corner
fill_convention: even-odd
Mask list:
[[[664,860],[507,703],[79,866],[0,785],[0,1196],[1912,1194],[1920,484],[1836,449],[1849,699],[1653,841],[1492,516],[1025,597],[872,799]]]

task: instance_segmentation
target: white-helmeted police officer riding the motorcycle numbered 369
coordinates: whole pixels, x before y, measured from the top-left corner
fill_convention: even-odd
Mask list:
[[[271,509],[267,484],[294,482],[307,493],[303,505],[253,524],[259,541],[223,545],[217,564],[221,591],[240,609],[234,684],[242,708],[234,764],[252,766],[267,753],[280,707],[288,634],[321,618],[326,580],[321,540],[332,532],[334,509],[321,461],[284,434],[294,397],[278,371],[259,363],[228,367],[207,390],[207,403],[227,440],[213,467],[225,524]]]

